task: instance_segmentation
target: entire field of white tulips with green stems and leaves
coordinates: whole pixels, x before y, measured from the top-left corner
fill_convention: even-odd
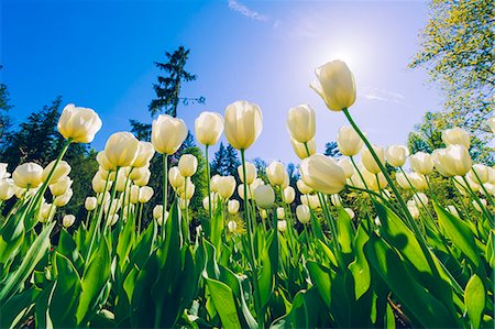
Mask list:
[[[91,109],[68,105],[58,121],[67,143],[56,160],[45,168],[21,164],[12,177],[0,165],[1,202],[18,198],[0,229],[1,327],[33,317],[37,327],[388,328],[395,317],[421,327],[493,326],[495,169],[472,163],[460,128],[443,131],[447,147],[432,154],[371,144],[349,112],[356,92],[348,66],[333,61],[316,74],[311,88],[350,123],[337,135],[343,156],[317,153],[314,109],[292,108],[287,129],[301,160],[300,202],[292,207],[298,200],[285,166],[272,162],[264,182],[245,161],[262,132],[260,107],[235,101],[223,117],[202,112],[195,132],[207,158],[208,218],[196,239],[188,208],[198,160],[184,154],[168,168],[188,130],[160,114],[151,142],[130,132],[108,139],[86,219],[69,234],[76,218],[64,216],[51,245],[55,213],[73,196],[64,154],[91,142],[102,124]],[[222,133],[241,153],[239,186],[233,176],[210,177],[208,150]],[[155,153],[163,155],[163,199],[143,227]],[[437,201],[433,171],[451,180],[458,201]],[[351,191],[370,208],[345,207]]]

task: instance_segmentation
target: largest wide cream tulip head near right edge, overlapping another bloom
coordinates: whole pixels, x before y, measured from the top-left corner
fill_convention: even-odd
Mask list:
[[[446,177],[464,176],[471,169],[471,156],[462,145],[450,145],[436,151],[435,167]]]

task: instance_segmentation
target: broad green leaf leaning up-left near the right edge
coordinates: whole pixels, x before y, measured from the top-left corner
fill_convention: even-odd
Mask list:
[[[468,224],[442,207],[439,207],[437,202],[433,202],[433,207],[438,215],[438,221],[452,240],[452,243],[457,245],[476,267],[480,266],[481,251],[477,250],[473,232]]]

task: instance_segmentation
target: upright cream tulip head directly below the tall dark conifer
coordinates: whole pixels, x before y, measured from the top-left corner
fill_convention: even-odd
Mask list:
[[[174,154],[187,138],[187,127],[182,119],[160,114],[152,123],[152,143],[161,154]]]

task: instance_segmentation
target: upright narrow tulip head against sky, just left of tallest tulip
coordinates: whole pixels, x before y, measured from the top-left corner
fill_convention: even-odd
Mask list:
[[[304,144],[316,133],[315,110],[307,103],[292,108],[287,116],[287,129],[293,140]]]

